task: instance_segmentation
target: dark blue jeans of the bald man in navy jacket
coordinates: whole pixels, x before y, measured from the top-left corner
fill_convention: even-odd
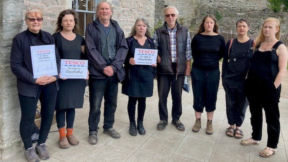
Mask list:
[[[114,113],[117,107],[118,79],[116,74],[105,79],[89,78],[89,133],[97,134],[100,120],[100,107],[104,96],[104,125],[103,129],[111,128],[114,124]]]

